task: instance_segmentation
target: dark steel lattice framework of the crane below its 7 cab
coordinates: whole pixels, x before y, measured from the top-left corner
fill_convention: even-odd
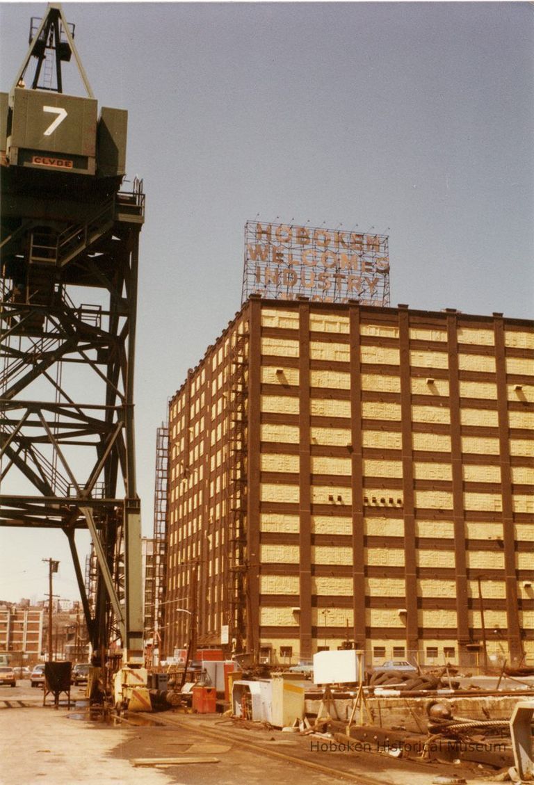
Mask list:
[[[16,209],[2,216],[9,253],[0,301],[0,525],[64,531],[93,648],[107,647],[115,628],[128,659],[140,659],[143,648],[133,436],[143,206],[140,189],[117,195],[114,220],[107,215],[92,243],[80,242],[67,263],[46,265],[28,254],[27,216],[17,220]],[[52,239],[68,228],[43,225]],[[93,608],[75,546],[79,529],[90,531],[99,565]]]

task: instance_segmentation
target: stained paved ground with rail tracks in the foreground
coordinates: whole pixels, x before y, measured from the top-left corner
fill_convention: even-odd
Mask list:
[[[82,690],[73,690],[82,699]],[[21,706],[20,703],[23,705]],[[384,755],[310,750],[310,738],[266,730],[237,730],[221,717],[155,714],[135,724],[90,721],[86,707],[42,707],[42,690],[20,682],[0,688],[0,783],[2,785],[332,785],[345,772],[360,785],[430,785],[436,769]],[[156,723],[156,724],[154,724]],[[229,738],[229,734],[233,734]],[[260,744],[261,750],[250,743]],[[265,752],[272,754],[265,754]],[[134,768],[133,758],[206,755],[217,763]],[[291,760],[293,758],[293,760]],[[334,769],[303,768],[294,758]],[[463,776],[481,785],[472,767]],[[486,780],[487,782],[488,780]]]

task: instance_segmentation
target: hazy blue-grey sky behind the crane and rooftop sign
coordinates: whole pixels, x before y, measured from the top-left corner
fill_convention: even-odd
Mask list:
[[[0,89],[44,3],[0,3]],[[137,468],[240,308],[247,219],[390,235],[391,301],[532,318],[534,5],[65,3],[144,179]],[[77,597],[64,535],[3,530],[0,599]],[[64,542],[65,541],[65,542]],[[24,571],[24,572],[23,572]]]

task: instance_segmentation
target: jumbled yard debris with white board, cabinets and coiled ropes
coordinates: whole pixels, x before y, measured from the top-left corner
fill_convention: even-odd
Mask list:
[[[503,672],[497,684],[484,678],[481,685],[449,667],[366,674],[361,652],[353,650],[315,655],[313,681],[298,672],[242,671],[222,659],[203,660],[152,674],[152,686],[165,688],[152,688],[151,697],[155,708],[225,712],[239,725],[279,728],[347,751],[527,770],[528,762],[514,758],[510,718],[529,704],[521,699],[534,699],[534,679],[503,681]]]

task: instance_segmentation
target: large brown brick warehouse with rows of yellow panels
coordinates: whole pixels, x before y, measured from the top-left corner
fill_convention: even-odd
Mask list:
[[[194,616],[274,663],[532,662],[533,356],[498,313],[253,295],[170,401],[166,652]]]

